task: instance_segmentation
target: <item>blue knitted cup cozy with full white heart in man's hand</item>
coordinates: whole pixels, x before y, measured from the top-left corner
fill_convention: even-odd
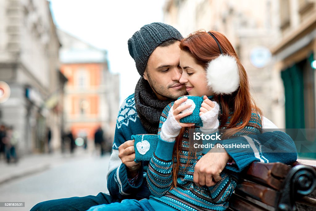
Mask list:
[[[141,134],[141,135],[132,135],[131,140],[135,140],[135,162],[141,160],[150,160],[153,156],[157,144],[158,144],[158,135],[154,134]]]

